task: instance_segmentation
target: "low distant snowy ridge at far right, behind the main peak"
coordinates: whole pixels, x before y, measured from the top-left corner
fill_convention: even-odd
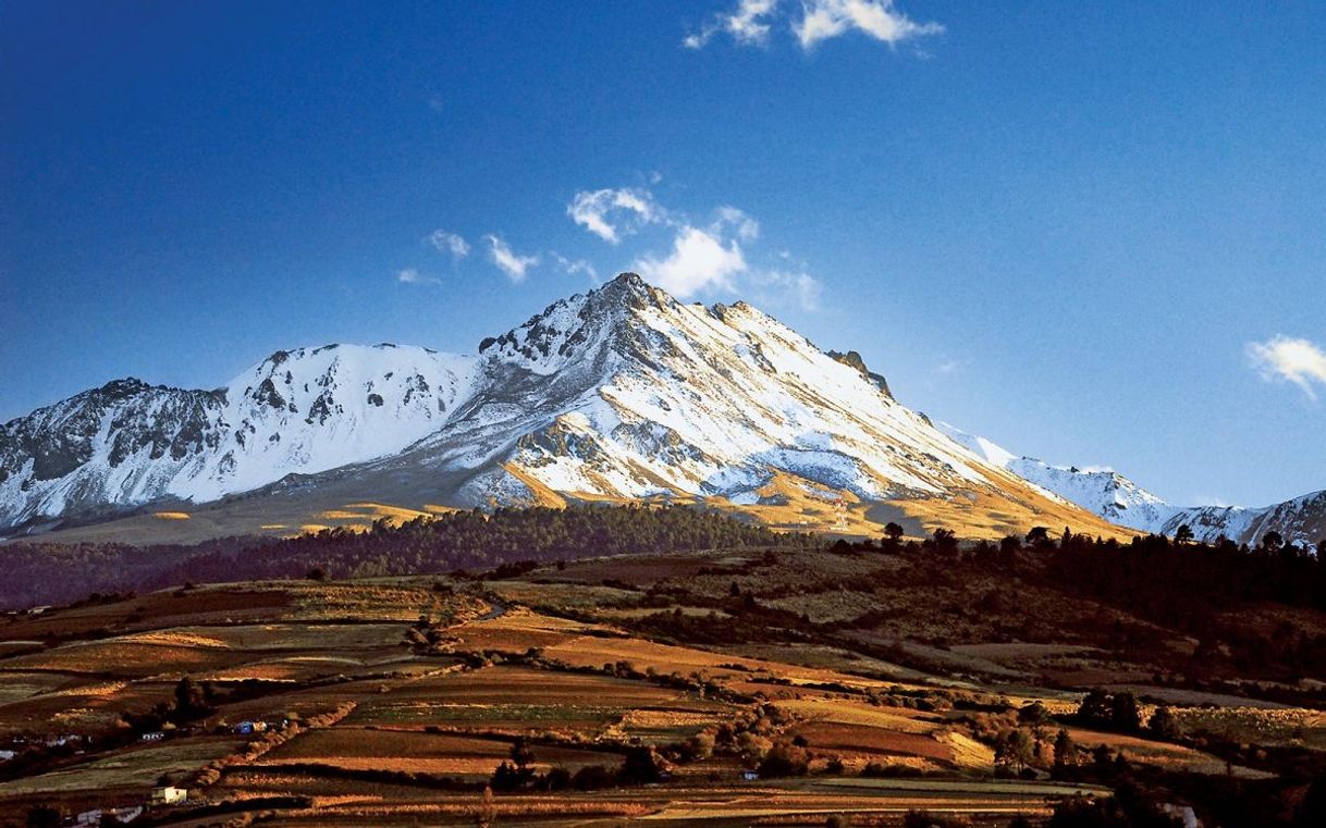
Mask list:
[[[1260,542],[1268,531],[1310,546],[1326,539],[1326,492],[1260,509],[1174,506],[1111,469],[1054,466],[1044,460],[1014,454],[947,423],[936,423],[936,427],[987,462],[1119,526],[1163,535],[1174,535],[1180,526],[1188,526],[1199,541],[1228,538],[1249,544]]]

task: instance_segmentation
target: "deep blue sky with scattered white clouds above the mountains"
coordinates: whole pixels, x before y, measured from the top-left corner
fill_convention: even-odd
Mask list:
[[[1322,42],[1293,0],[7,3],[0,419],[472,352],[636,268],[1013,450],[1322,489]]]

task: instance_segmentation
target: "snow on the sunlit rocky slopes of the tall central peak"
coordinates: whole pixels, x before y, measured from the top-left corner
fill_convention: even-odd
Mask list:
[[[741,497],[773,470],[871,499],[991,485],[858,368],[744,303],[683,305],[623,277],[485,340],[483,356],[524,387],[489,387],[426,441],[446,469],[497,464],[467,490],[476,501],[528,480],[594,497]],[[505,419],[517,393],[546,415]],[[476,444],[501,450],[480,457]]]

